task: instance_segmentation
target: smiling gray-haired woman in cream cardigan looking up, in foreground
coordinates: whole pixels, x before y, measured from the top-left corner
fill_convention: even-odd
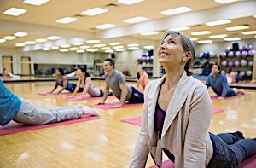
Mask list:
[[[241,132],[208,132],[212,101],[207,87],[192,76],[195,45],[183,33],[164,33],[158,50],[166,75],[145,89],[142,127],[131,168],[145,167],[148,154],[161,167],[162,151],[177,168],[238,167],[256,152],[256,139]]]

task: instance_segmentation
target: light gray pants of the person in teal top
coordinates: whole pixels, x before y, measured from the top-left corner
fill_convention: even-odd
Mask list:
[[[15,121],[27,125],[44,125],[68,119],[79,119],[82,117],[82,107],[55,107],[51,109],[38,109],[30,101],[21,100],[19,112]]]

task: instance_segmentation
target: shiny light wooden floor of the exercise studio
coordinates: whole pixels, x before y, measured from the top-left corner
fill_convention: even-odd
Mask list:
[[[103,87],[103,81],[93,82]],[[53,82],[9,83],[7,86],[40,108],[101,101],[65,101],[67,95],[37,94],[51,90]],[[212,95],[212,90],[209,92]],[[210,131],[241,130],[247,137],[256,136],[256,90],[246,90],[246,93],[235,99],[212,101],[213,107],[225,111],[212,115]],[[128,167],[140,127],[120,120],[141,115],[142,106],[99,112],[101,119],[0,136],[0,167]],[[149,165],[154,165],[150,157],[147,167]]]

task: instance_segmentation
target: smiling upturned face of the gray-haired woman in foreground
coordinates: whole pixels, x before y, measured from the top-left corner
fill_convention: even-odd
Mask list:
[[[160,42],[160,49],[158,50],[159,63],[181,65],[185,52],[178,36],[168,35]]]

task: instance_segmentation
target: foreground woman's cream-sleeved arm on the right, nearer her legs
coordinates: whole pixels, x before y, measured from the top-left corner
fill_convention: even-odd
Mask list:
[[[207,87],[198,87],[190,103],[189,123],[184,142],[184,167],[205,167],[207,133],[211,118],[212,101]]]

